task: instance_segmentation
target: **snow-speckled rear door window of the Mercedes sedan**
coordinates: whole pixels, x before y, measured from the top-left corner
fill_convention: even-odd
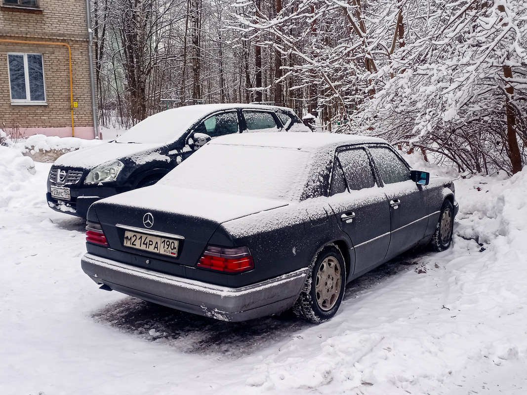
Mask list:
[[[350,190],[358,191],[375,186],[372,166],[363,148],[342,151],[337,156]]]

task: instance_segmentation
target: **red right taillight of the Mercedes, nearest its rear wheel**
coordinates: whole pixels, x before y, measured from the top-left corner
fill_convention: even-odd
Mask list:
[[[228,273],[240,273],[254,269],[252,256],[247,246],[219,247],[207,245],[199,262],[199,268],[219,270]]]

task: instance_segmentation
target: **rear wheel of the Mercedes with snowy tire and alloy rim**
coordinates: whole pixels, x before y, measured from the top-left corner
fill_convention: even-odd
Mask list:
[[[293,312],[313,323],[327,321],[340,307],[345,287],[344,258],[339,249],[330,244],[316,255]]]

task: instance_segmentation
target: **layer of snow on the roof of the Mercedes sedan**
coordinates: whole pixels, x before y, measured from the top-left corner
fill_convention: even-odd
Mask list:
[[[337,133],[242,133],[218,137],[209,144],[249,145],[313,151],[343,144],[386,143],[377,137]]]

